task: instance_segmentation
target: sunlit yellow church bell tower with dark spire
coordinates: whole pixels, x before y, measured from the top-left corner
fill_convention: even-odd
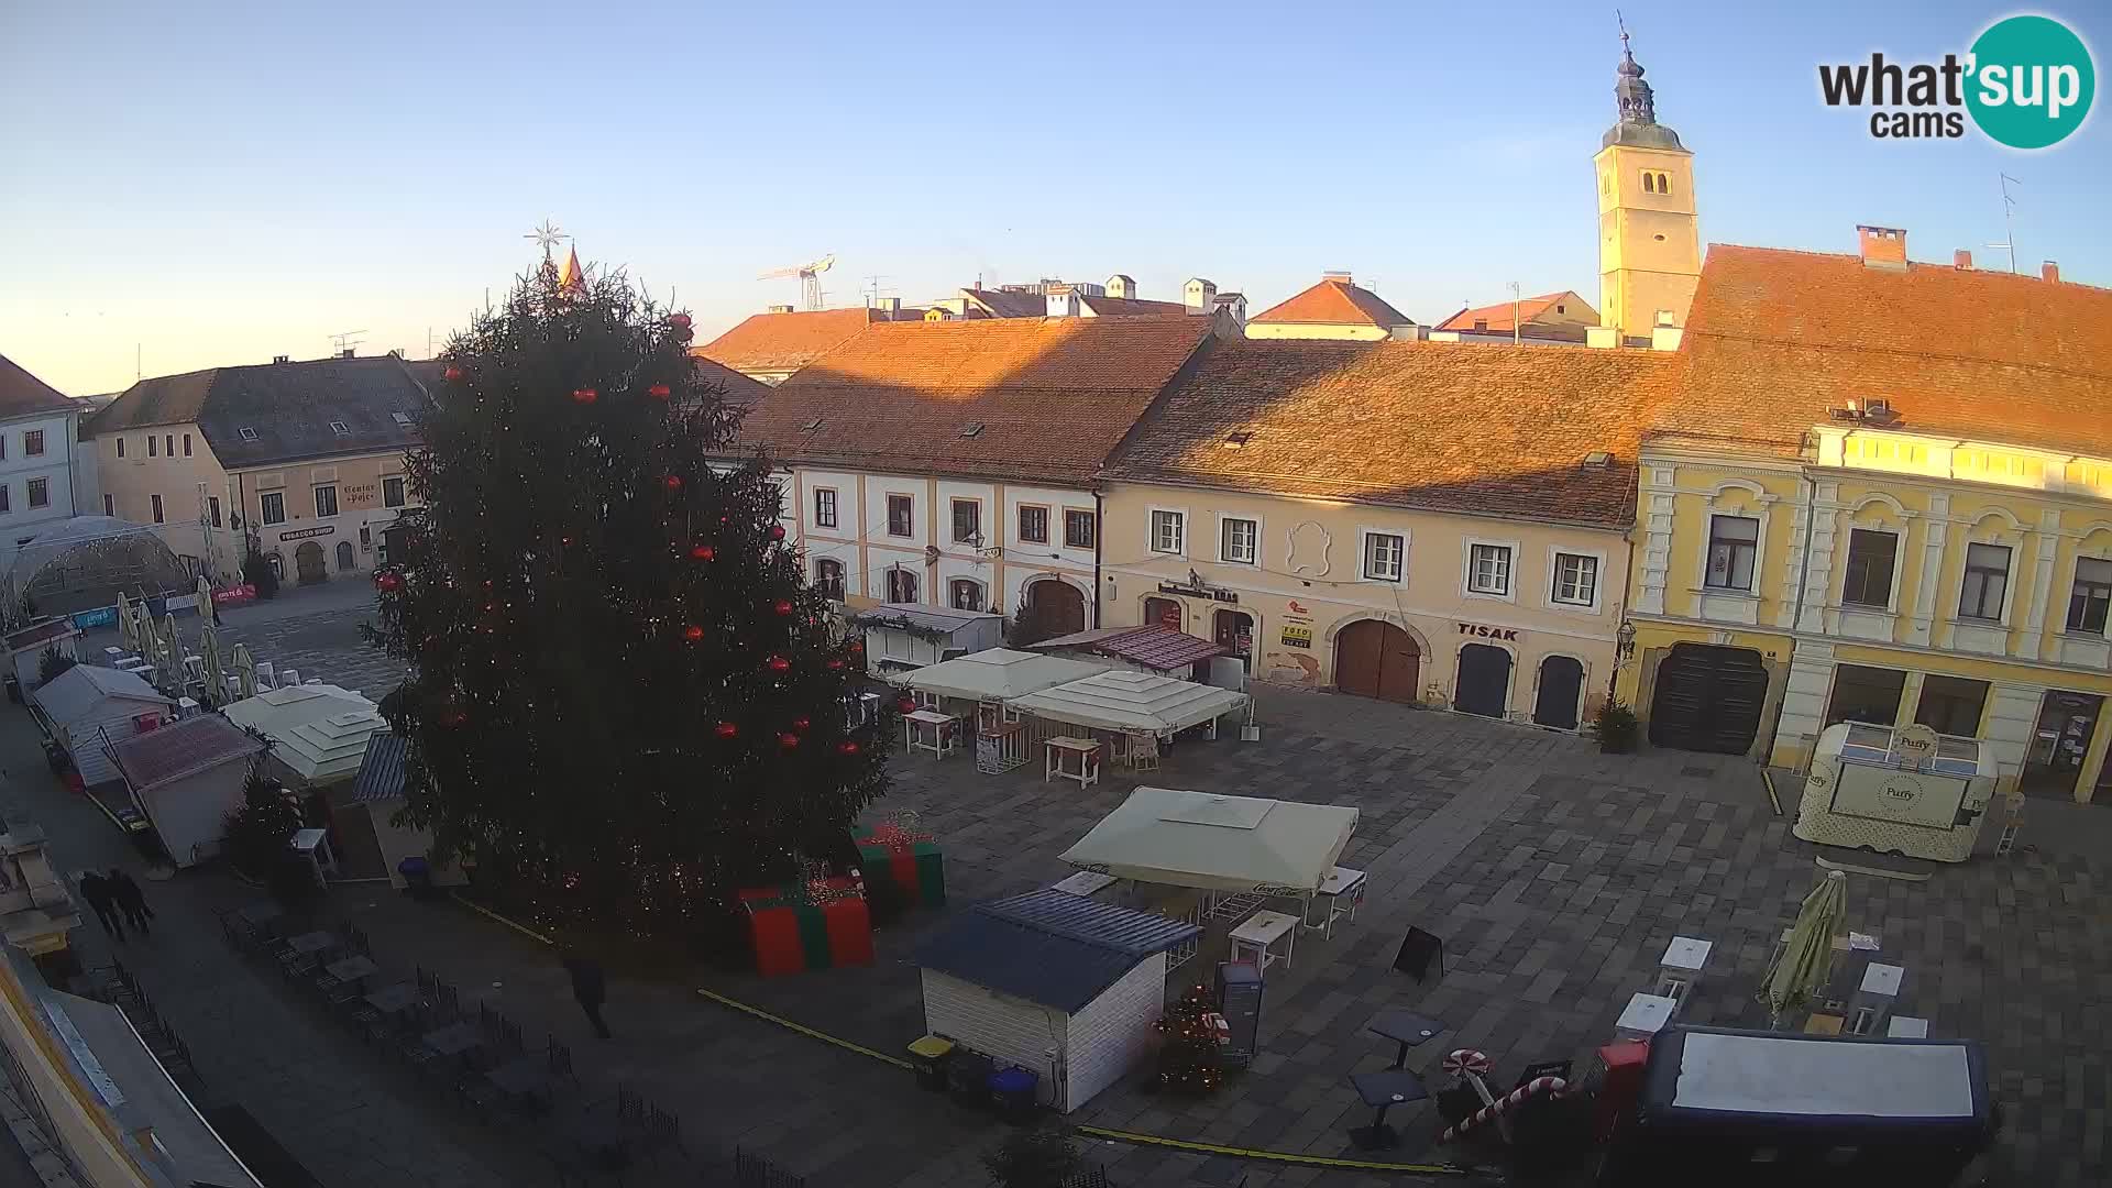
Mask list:
[[[1694,214],[1694,154],[1658,123],[1643,68],[1620,34],[1614,99],[1592,165],[1599,173],[1599,321],[1620,342],[1647,342],[1656,326],[1685,326],[1702,275]]]

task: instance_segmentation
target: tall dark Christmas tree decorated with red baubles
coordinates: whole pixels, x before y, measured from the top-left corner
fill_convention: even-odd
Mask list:
[[[399,822],[551,926],[684,934],[887,784],[891,714],[847,721],[860,645],[689,338],[621,275],[522,279],[448,345],[376,575]]]

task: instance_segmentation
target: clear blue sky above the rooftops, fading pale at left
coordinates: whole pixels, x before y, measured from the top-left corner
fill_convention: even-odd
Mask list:
[[[1964,51],[1998,4],[1624,0],[1702,239],[1916,258],[2002,239],[2112,283],[2112,120],[2038,154],[1873,142],[1816,63]],[[2097,2],[2042,8],[2106,72]],[[0,353],[70,393],[146,374],[425,353],[530,264],[670,287],[716,334],[834,252],[906,302],[974,281],[1204,275],[1259,311],[1352,268],[1417,319],[1597,298],[1590,154],[1614,4],[226,4],[0,13]],[[2106,101],[2101,99],[2099,106]],[[1992,260],[1985,249],[1981,260]]]

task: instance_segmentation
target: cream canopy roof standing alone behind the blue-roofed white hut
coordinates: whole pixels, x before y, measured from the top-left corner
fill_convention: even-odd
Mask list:
[[[1208,890],[1301,894],[1341,860],[1356,810],[1136,788],[1062,860],[1086,871]]]

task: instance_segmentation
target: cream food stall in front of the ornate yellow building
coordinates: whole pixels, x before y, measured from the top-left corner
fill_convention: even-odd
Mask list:
[[[1835,723],[1818,736],[1795,835],[1939,862],[1975,852],[1994,797],[1994,750],[1926,725]]]

